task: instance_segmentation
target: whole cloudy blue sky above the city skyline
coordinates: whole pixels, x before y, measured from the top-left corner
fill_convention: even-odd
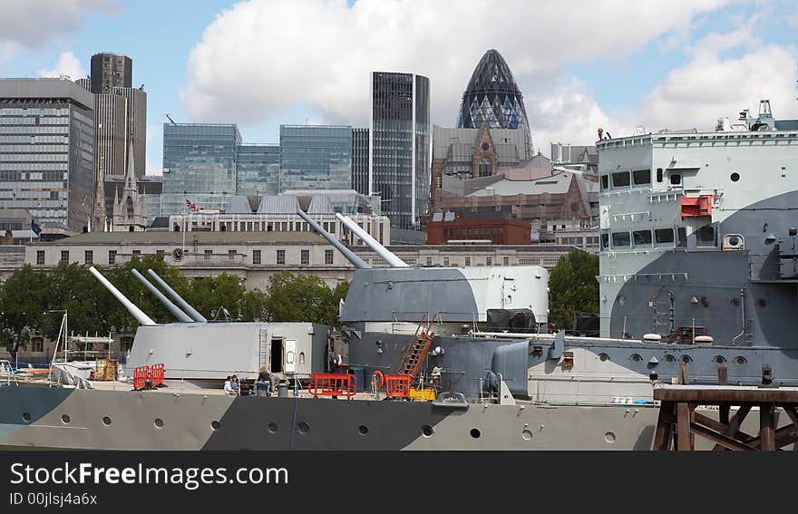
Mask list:
[[[93,53],[133,60],[147,92],[147,173],[162,123],[368,123],[371,71],[431,82],[452,127],[482,54],[499,50],[536,150],[642,126],[712,130],[756,112],[798,118],[798,3],[787,0],[0,0],[0,77],[87,75]]]

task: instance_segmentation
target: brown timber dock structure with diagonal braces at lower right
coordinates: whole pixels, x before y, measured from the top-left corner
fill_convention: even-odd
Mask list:
[[[798,451],[798,387],[657,384],[654,399],[661,402],[652,449],[695,449],[696,436],[715,442],[715,451],[780,450],[793,444]],[[699,405],[717,405],[718,421],[696,412]],[[732,407],[738,407],[730,418]],[[742,432],[745,417],[759,410],[759,433]],[[792,423],[776,429],[781,408]]]

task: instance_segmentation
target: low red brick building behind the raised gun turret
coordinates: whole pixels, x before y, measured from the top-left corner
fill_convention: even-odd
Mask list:
[[[489,240],[493,245],[529,245],[531,225],[509,218],[454,218],[427,223],[427,244],[443,245],[456,240]]]

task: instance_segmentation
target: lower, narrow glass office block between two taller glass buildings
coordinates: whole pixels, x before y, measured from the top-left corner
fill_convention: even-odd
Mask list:
[[[279,189],[280,147],[246,144],[238,147],[236,174],[239,195],[276,195]]]

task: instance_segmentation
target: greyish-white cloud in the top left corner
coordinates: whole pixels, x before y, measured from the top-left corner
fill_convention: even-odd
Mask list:
[[[111,0],[0,0],[0,66],[22,49],[41,48],[79,30],[85,15],[113,14],[119,8]]]

